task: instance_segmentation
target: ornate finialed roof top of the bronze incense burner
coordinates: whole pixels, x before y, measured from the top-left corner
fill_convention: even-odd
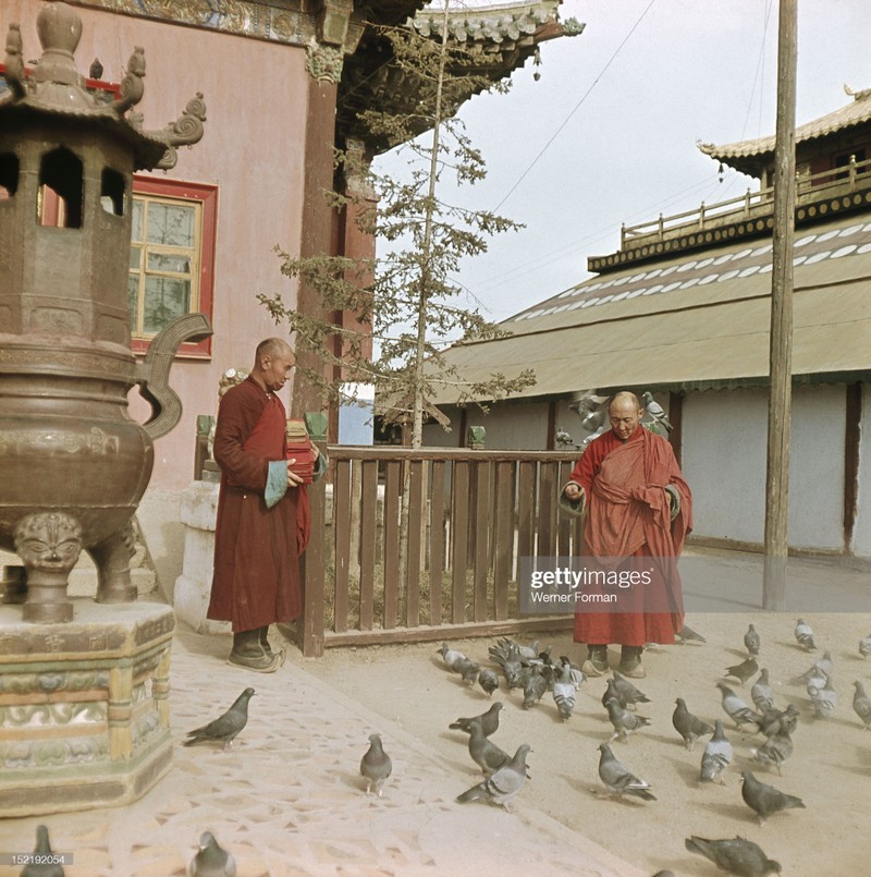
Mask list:
[[[142,100],[145,87],[145,50],[134,47],[121,81],[119,99],[85,87],[74,54],[82,37],[82,20],[66,3],[45,7],[36,20],[42,54],[32,70],[23,62],[21,28],[10,24],[3,77],[9,89],[0,95],[0,125],[10,114],[27,113],[93,121],[127,141],[135,170],[172,168],[175,147],[197,143],[204,133],[206,105],[197,94],[184,112],[161,131],[144,131],[140,113],[130,112]],[[128,114],[127,114],[128,113]]]

